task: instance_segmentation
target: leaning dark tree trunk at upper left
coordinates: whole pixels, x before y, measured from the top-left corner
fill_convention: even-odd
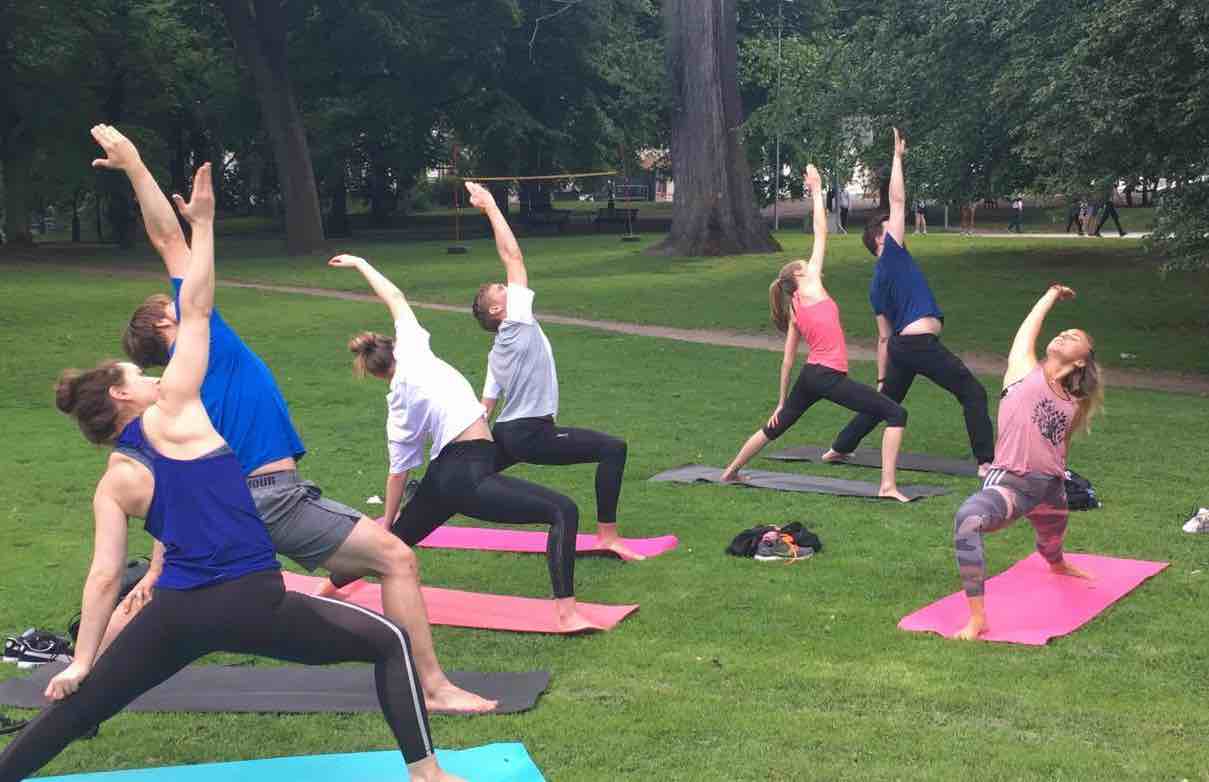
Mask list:
[[[285,250],[300,255],[323,244],[323,215],[311,149],[294,98],[280,0],[220,0],[236,48],[251,71],[285,201]]]

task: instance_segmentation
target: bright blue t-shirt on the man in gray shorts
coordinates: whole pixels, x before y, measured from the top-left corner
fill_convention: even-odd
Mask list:
[[[172,279],[177,318],[183,282]],[[202,381],[202,404],[210,423],[235,451],[244,475],[270,462],[306,454],[273,373],[222,320],[218,307],[210,315],[210,363]]]

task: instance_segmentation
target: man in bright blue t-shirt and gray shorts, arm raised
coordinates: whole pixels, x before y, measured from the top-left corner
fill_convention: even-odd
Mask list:
[[[147,237],[163,259],[179,300],[190,247],[172,205],[126,137],[105,124],[94,127],[92,135],[106,156],[93,166],[122,170],[129,176]],[[149,297],[134,312],[122,340],[131,360],[143,367],[167,364],[177,340],[178,320],[175,301],[163,294]],[[420,592],[420,564],[415,552],[359,511],[323,497],[318,486],[299,476],[297,462],[306,447],[294,429],[272,371],[216,308],[210,315],[209,334],[202,402],[239,459],[256,511],[277,551],[308,570],[322,566],[355,577],[369,573],[381,577],[386,615],[411,637],[429,709],[486,712],[494,708],[494,701],[455,687],[441,670]],[[157,545],[151,570],[114,614],[102,649],[149,598],[162,560],[163,551]]]

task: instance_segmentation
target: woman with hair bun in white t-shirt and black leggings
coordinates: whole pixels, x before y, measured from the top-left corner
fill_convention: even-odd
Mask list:
[[[394,338],[363,331],[348,343],[357,357],[353,369],[358,375],[391,384],[386,396],[391,471],[384,516],[391,532],[413,546],[455,514],[502,523],[549,525],[546,560],[559,625],[568,632],[591,627],[575,608],[575,503],[543,486],[497,475],[497,444],[487,428],[486,411],[462,373],[433,353],[428,331],[416,320],[403,291],[365,259],[337,255],[328,263],[359,271],[394,320]],[[432,440],[428,469],[399,514],[407,474],[423,464],[426,440]],[[353,580],[332,574],[324,593]]]

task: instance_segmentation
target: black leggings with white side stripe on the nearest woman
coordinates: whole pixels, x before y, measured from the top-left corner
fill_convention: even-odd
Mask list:
[[[0,754],[0,782],[18,782],[135,697],[212,651],[290,662],[374,662],[378,701],[404,759],[433,753],[407,636],[384,616],[285,591],[277,570],[189,591],[162,590],[100,655],[75,694],[42,709]]]

